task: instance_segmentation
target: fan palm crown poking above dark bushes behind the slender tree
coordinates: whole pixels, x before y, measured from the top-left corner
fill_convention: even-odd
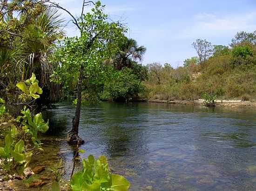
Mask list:
[[[120,46],[120,51],[116,55],[115,67],[121,70],[124,67],[131,68],[133,61],[141,62],[146,48],[139,46],[133,38],[125,38]]]

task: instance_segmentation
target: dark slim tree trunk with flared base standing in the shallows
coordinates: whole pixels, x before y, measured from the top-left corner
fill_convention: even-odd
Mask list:
[[[83,67],[81,66],[80,76],[77,84],[77,104],[76,104],[75,116],[72,121],[73,127],[72,127],[72,130],[69,131],[67,134],[67,142],[70,144],[77,144],[78,141],[81,142],[81,144],[84,143],[84,140],[82,140],[78,136],[78,127],[80,122],[81,103],[82,103],[82,80],[83,80],[82,71],[83,71]]]

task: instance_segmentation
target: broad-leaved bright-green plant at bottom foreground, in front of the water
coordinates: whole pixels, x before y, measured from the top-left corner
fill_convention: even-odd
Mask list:
[[[92,155],[82,160],[83,169],[71,179],[73,191],[128,191],[130,183],[120,175],[108,171],[106,157],[94,159]]]

